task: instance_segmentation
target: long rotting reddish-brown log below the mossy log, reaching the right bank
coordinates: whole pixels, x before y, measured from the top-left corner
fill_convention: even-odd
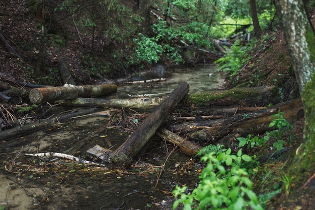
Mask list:
[[[252,113],[248,118],[230,117],[225,119],[211,120],[200,123],[187,123],[172,126],[173,132],[188,132],[190,140],[208,141],[215,143],[216,139],[223,137],[228,133],[241,133],[247,135],[249,133],[263,133],[273,129],[269,127],[269,123],[280,109],[283,117],[289,122],[295,122],[303,117],[302,101],[300,99],[293,100],[291,103],[282,104],[282,106],[274,106],[270,109],[260,110]],[[262,112],[263,111],[263,112]],[[194,126],[195,125],[195,126]]]

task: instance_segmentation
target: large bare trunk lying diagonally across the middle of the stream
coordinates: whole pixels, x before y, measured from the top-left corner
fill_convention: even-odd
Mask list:
[[[149,141],[156,129],[160,127],[168,114],[184,98],[188,91],[189,84],[182,82],[113,153],[110,157],[111,163],[118,166],[130,165],[131,159]]]

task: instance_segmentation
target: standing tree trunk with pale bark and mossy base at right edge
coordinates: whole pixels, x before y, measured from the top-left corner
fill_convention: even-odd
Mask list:
[[[307,21],[302,0],[275,1],[305,113],[304,141],[290,167],[296,181],[305,181],[315,163],[315,37]],[[309,173],[308,173],[309,172]]]

